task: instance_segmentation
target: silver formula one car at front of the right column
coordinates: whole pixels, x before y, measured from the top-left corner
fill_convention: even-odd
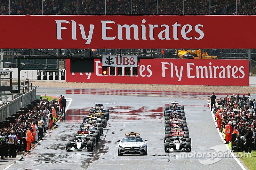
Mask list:
[[[164,152],[191,152],[190,142],[184,142],[181,137],[172,137],[170,139],[172,140],[164,143]]]

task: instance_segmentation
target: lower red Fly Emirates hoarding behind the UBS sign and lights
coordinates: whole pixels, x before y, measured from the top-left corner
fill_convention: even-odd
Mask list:
[[[142,59],[138,63],[138,76],[110,76],[109,70],[108,76],[102,76],[102,63],[99,60],[94,60],[93,73],[71,73],[70,61],[66,60],[66,81],[249,86],[248,62],[248,60]]]

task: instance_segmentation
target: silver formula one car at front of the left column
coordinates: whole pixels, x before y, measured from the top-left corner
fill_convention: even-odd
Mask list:
[[[75,141],[70,141],[67,143],[66,150],[69,151],[93,151],[94,142],[91,140],[87,141],[81,136]]]

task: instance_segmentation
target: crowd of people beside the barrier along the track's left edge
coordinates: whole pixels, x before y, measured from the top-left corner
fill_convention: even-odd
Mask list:
[[[51,101],[40,97],[40,103],[37,102],[31,110],[21,114],[9,127],[0,129],[1,159],[16,157],[16,150],[30,152],[31,143],[42,140],[46,130],[50,130],[58,120],[61,104],[66,107],[66,99],[62,95],[59,100]],[[65,109],[62,112],[65,113]]]

